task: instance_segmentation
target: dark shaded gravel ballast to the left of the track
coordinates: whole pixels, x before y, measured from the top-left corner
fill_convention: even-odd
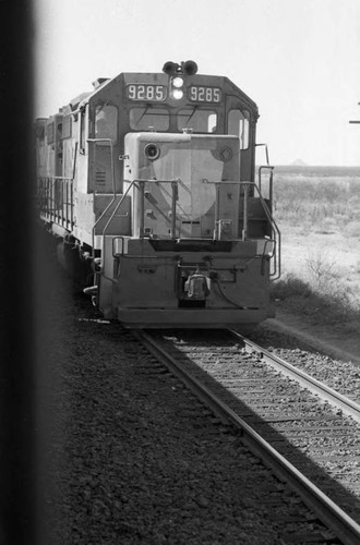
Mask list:
[[[277,544],[322,529],[131,334],[73,299],[51,259],[39,287],[41,543]]]

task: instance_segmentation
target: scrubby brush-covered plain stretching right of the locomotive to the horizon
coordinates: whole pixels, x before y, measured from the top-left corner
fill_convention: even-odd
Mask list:
[[[360,262],[347,268],[339,267],[340,251],[351,249],[345,238],[360,238],[360,177],[339,172],[321,178],[315,171],[314,175],[276,174],[275,171],[274,197],[274,215],[292,259],[287,269],[293,272],[273,283],[272,299],[285,311],[304,317],[309,324],[323,324],[341,335],[360,332],[356,277]],[[332,243],[321,239],[322,234],[334,235]],[[316,244],[312,244],[312,235]],[[323,242],[319,244],[319,240]],[[334,244],[340,245],[339,252],[334,251]],[[317,246],[320,249],[314,250]],[[356,243],[353,250],[358,252]],[[299,278],[298,275],[303,276]]]

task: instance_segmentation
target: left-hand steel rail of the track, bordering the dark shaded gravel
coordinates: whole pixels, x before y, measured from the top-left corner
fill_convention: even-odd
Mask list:
[[[247,422],[232,409],[226,405],[217,396],[209,391],[195,377],[189,375],[182,366],[168,354],[156,341],[144,331],[133,331],[133,335],[178,378],[180,378],[224,423],[231,423],[241,432],[244,445],[262,459],[265,465],[302,498],[303,502],[313,509],[320,520],[334,531],[345,545],[359,545],[360,525],[343,509],[320,491],[309,479],[300,473],[290,462],[265,441]]]

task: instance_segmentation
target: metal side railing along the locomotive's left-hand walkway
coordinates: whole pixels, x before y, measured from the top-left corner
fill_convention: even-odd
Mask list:
[[[73,179],[39,177],[37,202],[40,216],[71,230],[74,225]]]

